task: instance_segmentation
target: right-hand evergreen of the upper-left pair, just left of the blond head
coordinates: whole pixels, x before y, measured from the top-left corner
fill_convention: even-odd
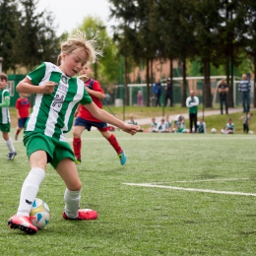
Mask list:
[[[55,62],[59,52],[52,15],[46,11],[36,13],[37,3],[37,0],[21,0],[24,12],[16,44],[19,63],[30,70],[42,61]]]

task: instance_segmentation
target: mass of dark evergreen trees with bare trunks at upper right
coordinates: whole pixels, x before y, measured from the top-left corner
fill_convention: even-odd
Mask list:
[[[120,25],[116,27],[120,39],[119,50],[132,49],[132,52],[128,51],[131,54],[127,57],[142,60],[162,58],[169,59],[170,63],[173,59],[181,61],[182,105],[185,104],[188,93],[186,63],[195,59],[201,60],[201,72],[205,77],[205,105],[212,106],[210,76],[213,65],[216,67],[225,65],[225,73],[230,85],[229,105],[233,105],[232,77],[234,67],[243,61],[241,57],[244,56],[244,49],[256,64],[256,58],[253,57],[256,56],[254,0],[109,0],[109,2],[112,4],[112,17],[120,21]],[[127,32],[133,32],[133,36],[128,36]],[[140,54],[136,54],[138,48]],[[170,67],[170,77],[172,77],[172,67]],[[149,79],[148,76],[147,78]]]

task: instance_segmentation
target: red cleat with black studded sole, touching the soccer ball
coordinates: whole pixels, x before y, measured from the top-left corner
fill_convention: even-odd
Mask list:
[[[15,215],[8,220],[8,225],[12,229],[19,228],[28,234],[37,232],[37,227],[32,224],[32,221],[28,216]]]

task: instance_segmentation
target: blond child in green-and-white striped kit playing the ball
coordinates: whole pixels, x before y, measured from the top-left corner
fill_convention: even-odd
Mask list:
[[[31,171],[22,187],[18,212],[8,221],[10,228],[20,228],[27,233],[37,231],[30,220],[30,212],[47,162],[56,169],[66,185],[63,218],[79,221],[97,218],[96,211],[80,209],[82,184],[74,153],[65,139],[79,103],[97,119],[124,132],[134,135],[139,130],[138,126],[125,124],[98,108],[88,95],[84,82],[74,78],[85,63],[95,62],[97,52],[94,43],[93,40],[86,40],[83,32],[77,32],[61,44],[58,66],[44,62],[17,86],[19,93],[36,96],[24,136]]]

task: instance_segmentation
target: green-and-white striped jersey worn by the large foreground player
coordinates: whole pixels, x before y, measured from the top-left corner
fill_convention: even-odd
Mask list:
[[[72,127],[78,104],[92,102],[84,82],[78,78],[67,77],[58,66],[49,62],[43,62],[28,74],[27,78],[34,86],[42,86],[48,81],[58,85],[50,95],[36,94],[32,114],[25,127],[25,135],[33,131],[66,141],[66,134]]]

